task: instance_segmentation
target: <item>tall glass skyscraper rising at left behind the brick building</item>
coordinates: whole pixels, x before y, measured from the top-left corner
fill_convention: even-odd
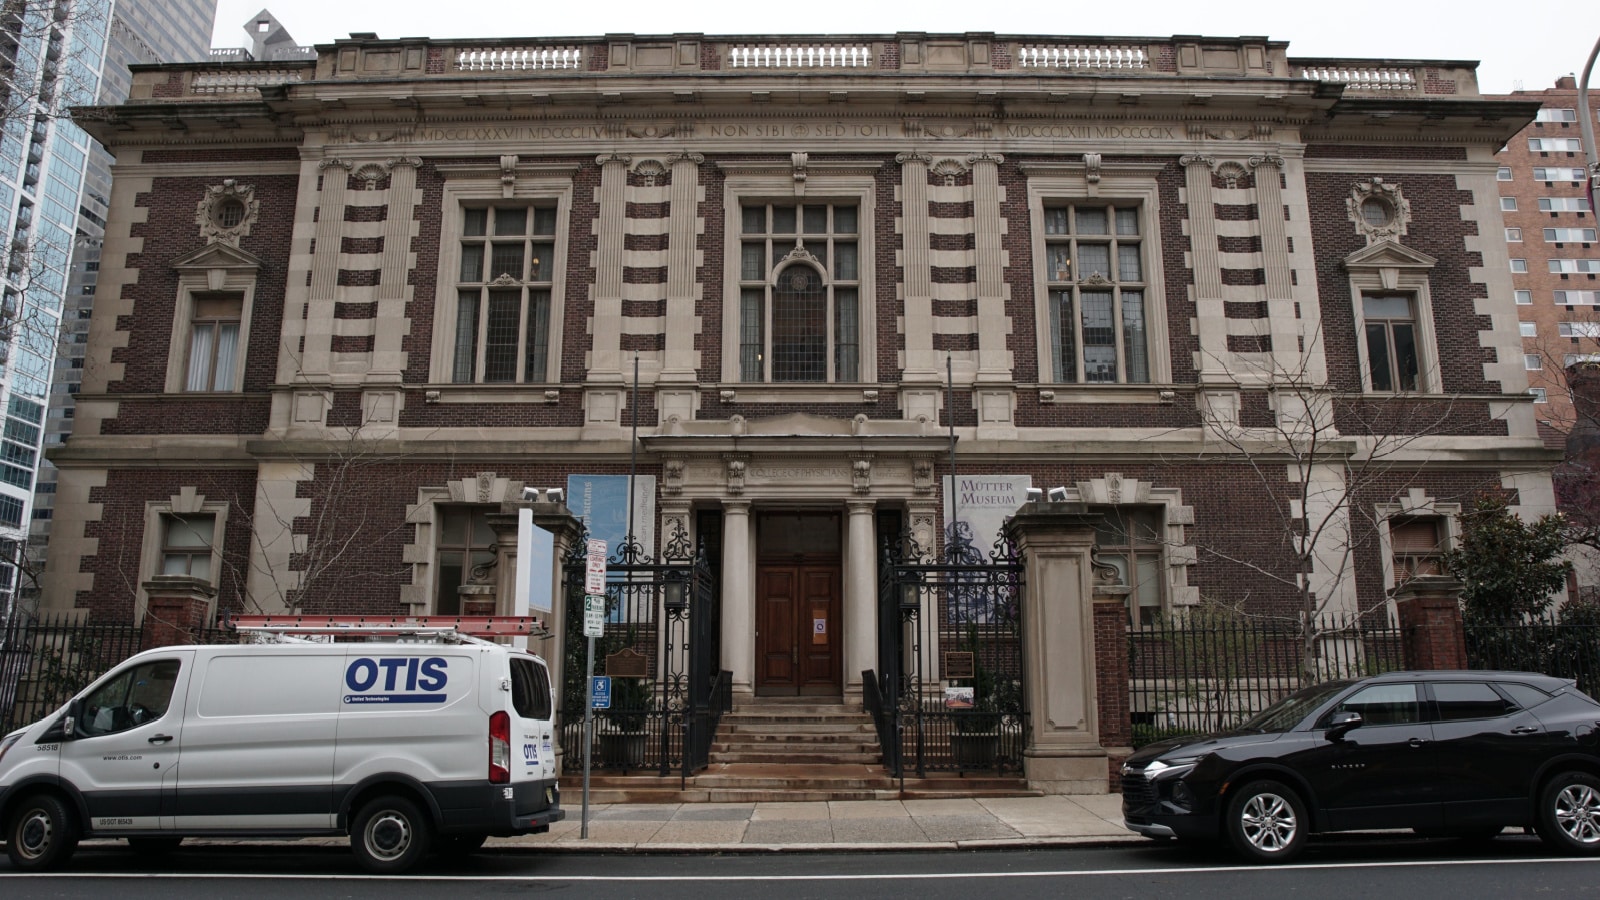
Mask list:
[[[110,195],[110,155],[69,117],[128,96],[128,66],[206,59],[216,0],[16,0],[0,13],[0,548],[42,554],[54,498],[43,448],[72,429]],[[10,70],[5,72],[3,69]],[[5,599],[18,583],[5,569]],[[10,607],[0,602],[0,615]]]

